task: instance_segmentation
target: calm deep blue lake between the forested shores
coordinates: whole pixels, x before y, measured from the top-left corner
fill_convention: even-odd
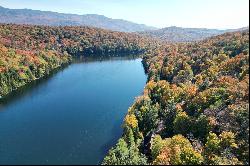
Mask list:
[[[0,101],[0,164],[100,164],[147,77],[141,59],[75,60]]]

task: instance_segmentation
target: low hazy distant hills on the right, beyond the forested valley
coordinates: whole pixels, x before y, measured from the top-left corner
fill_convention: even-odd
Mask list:
[[[181,27],[167,27],[159,30],[139,32],[139,34],[146,35],[168,42],[191,42],[203,40],[208,37],[223,34],[225,32],[234,32],[246,30],[249,27],[240,29],[218,30],[218,29],[206,29],[206,28],[181,28]]]

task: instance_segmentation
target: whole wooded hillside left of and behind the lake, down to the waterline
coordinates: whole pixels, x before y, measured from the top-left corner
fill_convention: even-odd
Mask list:
[[[155,44],[98,28],[0,24],[0,97],[69,63],[72,56],[135,55]]]

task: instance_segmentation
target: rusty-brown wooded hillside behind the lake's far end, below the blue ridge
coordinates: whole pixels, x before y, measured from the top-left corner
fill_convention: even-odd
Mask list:
[[[76,26],[0,24],[0,36],[0,42],[12,48],[66,51],[70,55],[139,54],[152,43],[131,33]]]

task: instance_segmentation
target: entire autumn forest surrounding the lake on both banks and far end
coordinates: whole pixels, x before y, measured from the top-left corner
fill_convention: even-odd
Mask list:
[[[142,58],[147,83],[100,164],[249,164],[248,28],[170,42],[89,26],[0,23],[0,101],[77,57],[127,55]]]

